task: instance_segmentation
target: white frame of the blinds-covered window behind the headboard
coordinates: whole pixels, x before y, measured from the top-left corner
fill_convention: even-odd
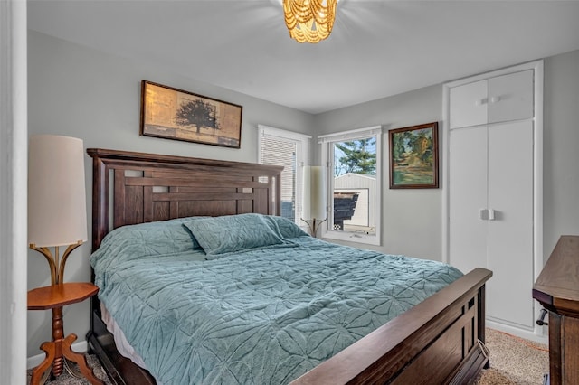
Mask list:
[[[296,222],[296,224],[298,224],[299,226],[302,226],[303,223],[300,223],[301,220],[300,218],[300,208],[301,208],[301,203],[303,200],[302,195],[302,189],[301,189],[301,184],[302,184],[302,179],[303,179],[303,166],[309,164],[309,153],[310,153],[310,142],[312,139],[312,136],[309,135],[305,135],[305,134],[300,134],[297,132],[293,132],[293,131],[289,131],[289,130],[285,130],[285,129],[281,129],[281,128],[276,128],[276,127],[270,127],[270,126],[264,126],[264,125],[258,125],[258,136],[257,136],[257,159],[258,159],[258,163],[261,163],[261,137],[262,136],[272,136],[272,137],[277,137],[283,140],[288,140],[291,142],[296,143],[296,179],[295,179],[295,185],[294,185],[294,189],[296,192],[296,210],[295,210],[295,218],[294,221]]]

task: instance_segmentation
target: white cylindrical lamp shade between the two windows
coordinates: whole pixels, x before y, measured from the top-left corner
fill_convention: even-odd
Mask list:
[[[326,167],[307,165],[303,169],[303,204],[305,220],[325,220],[327,217]]]

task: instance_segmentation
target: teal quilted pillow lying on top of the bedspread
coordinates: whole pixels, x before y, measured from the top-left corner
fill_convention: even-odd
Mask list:
[[[244,249],[293,246],[281,236],[276,221],[267,215],[239,214],[184,221],[208,259]]]

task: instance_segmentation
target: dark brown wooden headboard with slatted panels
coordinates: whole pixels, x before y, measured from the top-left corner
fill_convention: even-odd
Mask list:
[[[87,153],[93,251],[109,230],[128,224],[195,215],[280,215],[281,166],[101,148]]]

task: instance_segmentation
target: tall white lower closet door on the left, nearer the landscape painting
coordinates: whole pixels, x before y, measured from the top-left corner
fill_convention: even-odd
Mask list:
[[[486,126],[451,130],[449,167],[450,263],[466,274],[487,261]]]

